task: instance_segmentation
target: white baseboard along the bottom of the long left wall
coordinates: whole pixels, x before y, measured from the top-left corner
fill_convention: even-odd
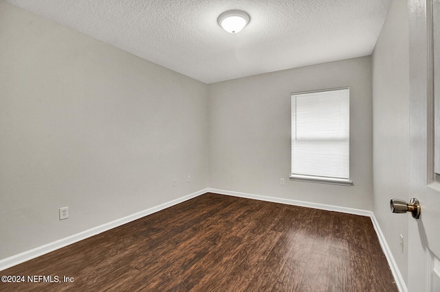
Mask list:
[[[74,234],[72,236],[67,236],[64,239],[59,239],[58,241],[54,241],[52,243],[47,243],[45,245],[35,247],[32,250],[28,250],[26,252],[22,252],[20,254],[16,254],[16,255],[10,256],[8,258],[4,258],[3,260],[0,260],[0,271],[3,271],[4,269],[8,269],[10,267],[13,267],[14,265],[19,265],[21,263],[24,263],[25,261],[32,260],[32,258],[37,258],[39,256],[43,256],[43,254],[48,254],[50,252],[53,252],[54,250],[58,250],[58,249],[65,247],[67,245],[71,245],[72,243],[82,241],[84,239],[87,239],[91,236],[100,234],[100,233],[105,232],[107,230],[111,230],[111,229],[116,228],[118,226],[122,226],[126,223],[129,223],[131,221],[135,221],[135,220],[140,219],[142,217],[145,217],[147,215],[151,215],[151,214],[158,212],[160,210],[164,210],[165,208],[168,208],[170,206],[174,206],[174,205],[177,205],[181,202],[185,202],[188,199],[192,199],[192,198],[197,197],[199,195],[203,195],[204,193],[208,193],[208,190],[203,189],[201,191],[197,191],[197,192],[192,193],[190,195],[186,195],[184,197],[179,197],[178,199],[173,199],[170,202],[160,204],[159,206],[148,208],[146,210],[134,213],[132,215],[129,215],[129,216],[126,216],[126,217],[123,217],[120,219],[116,219],[116,220],[111,221],[109,223],[104,223],[100,226],[90,228],[89,230],[85,230],[83,232]]]

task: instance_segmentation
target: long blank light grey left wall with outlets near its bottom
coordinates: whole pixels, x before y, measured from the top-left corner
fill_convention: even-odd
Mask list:
[[[206,84],[0,2],[0,260],[206,188],[207,106]]]

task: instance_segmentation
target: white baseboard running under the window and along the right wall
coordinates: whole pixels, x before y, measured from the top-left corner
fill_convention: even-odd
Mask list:
[[[371,212],[369,210],[346,208],[346,207],[341,207],[341,206],[317,204],[317,203],[311,203],[311,202],[303,202],[303,201],[297,201],[294,199],[283,199],[283,198],[279,198],[279,197],[267,197],[267,196],[263,196],[263,195],[254,195],[254,194],[249,194],[249,193],[225,191],[225,190],[219,190],[216,188],[208,188],[207,191],[210,193],[218,193],[221,195],[232,195],[234,197],[245,197],[248,199],[259,199],[261,201],[266,201],[266,202],[274,202],[274,203],[281,203],[281,204],[287,204],[287,205],[302,206],[302,207],[315,208],[315,209],[320,209],[320,210],[328,210],[328,211],[335,211],[335,212],[342,212],[342,213],[348,213],[348,214],[353,214],[353,215],[361,215],[361,216],[370,217],[371,222],[373,223],[373,227],[376,231],[377,238],[379,239],[380,247],[382,247],[382,251],[384,252],[384,254],[386,256],[386,260],[388,260],[388,265],[390,266],[391,272],[393,273],[393,277],[394,277],[395,282],[397,284],[397,289],[399,289],[400,292],[408,292],[404,278],[402,278],[402,276],[401,276],[399,268],[397,267],[397,263],[394,260],[394,257],[393,257],[393,254],[391,253],[390,248],[388,247],[388,243],[386,243],[385,236],[382,233],[382,230],[380,229],[379,223],[377,223],[376,217],[374,216],[373,212]]]

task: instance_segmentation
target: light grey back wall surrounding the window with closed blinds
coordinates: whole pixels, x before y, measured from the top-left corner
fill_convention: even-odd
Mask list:
[[[354,186],[289,181],[291,93],[342,86],[351,94]],[[219,82],[208,91],[211,188],[371,210],[369,56]]]

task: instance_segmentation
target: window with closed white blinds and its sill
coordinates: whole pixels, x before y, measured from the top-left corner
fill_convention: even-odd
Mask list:
[[[292,93],[291,180],[350,186],[350,89]]]

